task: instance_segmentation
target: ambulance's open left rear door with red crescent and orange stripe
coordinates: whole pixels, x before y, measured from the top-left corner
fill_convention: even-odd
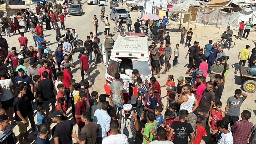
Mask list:
[[[110,94],[110,84],[113,81],[115,73],[117,73],[119,70],[121,61],[121,59],[115,57],[111,57],[109,59],[109,63],[105,73],[106,82],[104,85],[104,89],[107,94]]]

